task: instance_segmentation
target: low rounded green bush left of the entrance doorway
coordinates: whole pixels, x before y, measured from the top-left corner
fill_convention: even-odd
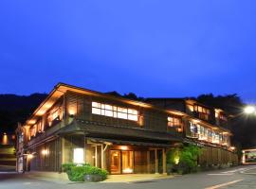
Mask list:
[[[64,172],[71,181],[85,181],[89,178],[91,181],[106,180],[108,172],[99,167],[91,166],[90,164],[64,163]],[[97,179],[95,179],[97,178]]]

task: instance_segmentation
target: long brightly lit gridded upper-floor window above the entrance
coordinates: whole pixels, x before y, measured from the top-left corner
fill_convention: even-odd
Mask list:
[[[135,109],[127,109],[99,102],[92,102],[92,113],[132,121],[138,120],[138,113]]]

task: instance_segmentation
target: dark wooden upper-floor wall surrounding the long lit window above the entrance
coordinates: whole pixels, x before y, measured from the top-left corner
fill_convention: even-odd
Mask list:
[[[92,102],[100,102],[115,105],[123,108],[135,109],[138,111],[138,121],[125,120],[120,118],[108,117],[92,113]],[[139,106],[127,105],[119,101],[109,100],[100,97],[67,93],[67,112],[75,112],[76,117],[83,120],[95,121],[113,126],[123,126],[128,128],[143,128],[155,131],[167,131],[167,116],[165,112],[152,109],[145,109]],[[169,130],[169,132],[176,132]]]

